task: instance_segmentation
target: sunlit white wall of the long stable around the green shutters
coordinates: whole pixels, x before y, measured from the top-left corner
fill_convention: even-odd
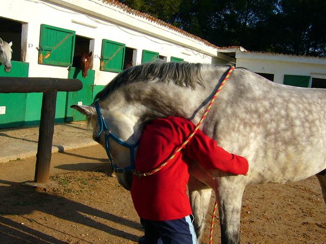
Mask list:
[[[68,77],[67,67],[38,64],[41,24],[70,29],[78,36],[95,40],[93,69],[97,85],[105,85],[117,75],[99,70],[102,39],[137,49],[136,65],[141,63],[143,49],[159,52],[168,61],[175,56],[187,62],[211,64],[212,56],[216,56],[213,47],[100,0],[2,1],[0,16],[28,23],[25,62],[30,63],[30,77]]]

